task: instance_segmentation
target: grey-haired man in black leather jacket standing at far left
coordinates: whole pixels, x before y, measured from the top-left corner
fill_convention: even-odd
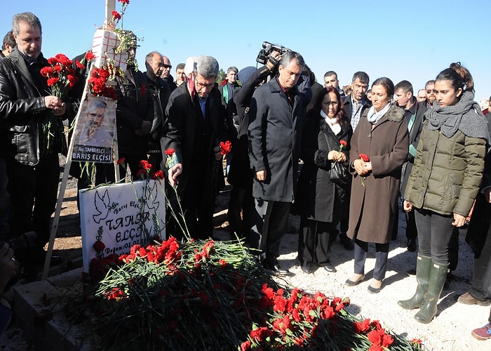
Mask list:
[[[17,47],[0,61],[0,118],[8,128],[10,237],[36,232],[37,246],[24,260],[25,265],[34,267],[43,261],[43,246],[48,242],[51,214],[55,211],[60,177],[58,153],[66,151],[61,119],[67,106],[47,93],[46,78],[41,76],[48,61],[41,53],[39,18],[29,12],[14,15],[13,36]],[[51,129],[55,143],[46,147],[42,124],[50,115],[58,128]]]

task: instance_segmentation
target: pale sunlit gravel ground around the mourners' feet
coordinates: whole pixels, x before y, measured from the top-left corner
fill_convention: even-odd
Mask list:
[[[73,183],[72,186],[73,187]],[[224,192],[226,204],[227,193]],[[74,193],[65,194],[63,208],[68,213],[62,212],[62,223],[71,221],[63,232],[58,233],[57,242],[60,243],[58,254],[80,252],[80,237],[76,234],[77,228],[74,219]],[[220,209],[220,208],[219,208]],[[298,227],[299,218],[290,217],[290,225]],[[227,238],[227,223],[215,231],[218,238]],[[459,265],[454,272],[456,279],[450,284],[450,289],[443,291],[438,303],[438,315],[430,324],[419,324],[413,319],[415,311],[403,310],[397,305],[397,300],[407,299],[412,296],[416,288],[416,278],[405,274],[415,267],[417,253],[410,253],[405,249],[404,223],[400,223],[398,238],[391,241],[389,253],[389,265],[386,279],[382,283],[382,291],[377,294],[368,293],[367,288],[372,278],[372,268],[375,265],[375,247],[370,246],[366,261],[365,282],[358,286],[345,286],[344,282],[353,273],[353,251],[346,251],[339,241],[332,246],[331,263],[337,268],[336,273],[328,273],[319,269],[314,274],[304,274],[297,261],[297,234],[286,234],[281,244],[282,255],[279,261],[282,266],[288,267],[292,275],[285,277],[290,286],[297,286],[309,293],[321,291],[327,296],[339,296],[349,298],[351,305],[347,310],[361,317],[378,319],[382,326],[391,329],[398,335],[408,339],[420,338],[429,350],[491,350],[491,340],[479,341],[471,336],[472,329],[482,326],[487,321],[490,307],[478,305],[462,305],[457,303],[457,297],[470,288],[472,277],[473,253],[464,241],[464,234],[459,237]],[[56,249],[56,243],[55,243]],[[34,350],[22,336],[22,329],[18,326],[10,326],[0,337],[0,350]]]

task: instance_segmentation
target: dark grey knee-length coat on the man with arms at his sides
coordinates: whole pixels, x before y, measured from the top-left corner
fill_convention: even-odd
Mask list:
[[[257,88],[250,104],[250,166],[254,174],[266,171],[266,180],[253,180],[253,197],[258,199],[294,200],[304,106],[297,87],[292,89],[293,107],[277,79]]]

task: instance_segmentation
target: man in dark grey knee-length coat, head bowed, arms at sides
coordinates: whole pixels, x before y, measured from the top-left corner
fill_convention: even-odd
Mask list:
[[[255,175],[250,246],[260,250],[264,267],[277,274],[289,273],[277,257],[297,181],[304,102],[295,85],[304,65],[299,53],[283,54],[278,76],[256,89],[249,112],[249,159]]]

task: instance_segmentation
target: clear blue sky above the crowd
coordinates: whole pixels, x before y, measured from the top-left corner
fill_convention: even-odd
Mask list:
[[[11,29],[12,15],[31,11],[43,25],[46,57],[86,51],[104,22],[105,0],[0,3],[0,36]],[[123,27],[144,38],[137,51],[142,69],[154,50],[168,56],[173,73],[191,55],[212,55],[225,70],[255,66],[262,42],[270,41],[301,53],[321,83],[331,69],[342,85],[363,70],[371,82],[407,79],[415,93],[460,61],[480,101],[491,95],[490,13],[489,0],[130,0]]]

